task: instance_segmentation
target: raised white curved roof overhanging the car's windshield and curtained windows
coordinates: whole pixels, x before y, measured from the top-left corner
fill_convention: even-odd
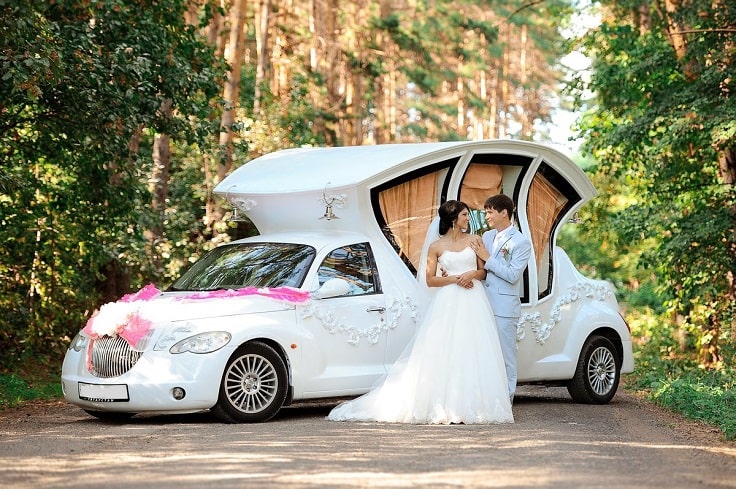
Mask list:
[[[532,165],[530,174],[544,162],[576,189],[581,202],[596,195],[584,172],[560,151],[506,139],[280,150],[243,164],[214,191],[233,209],[245,213],[261,234],[312,229],[377,237],[382,230],[372,208],[373,189],[448,161],[460,162],[453,170],[458,181],[468,162],[489,155],[511,160],[521,157]],[[508,187],[529,183],[517,179]],[[327,219],[331,213],[337,218]]]

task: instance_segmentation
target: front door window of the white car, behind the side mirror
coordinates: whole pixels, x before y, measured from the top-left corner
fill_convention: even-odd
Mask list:
[[[368,243],[357,243],[333,250],[322,261],[317,272],[319,285],[332,278],[348,282],[348,295],[374,294],[380,292],[380,282]]]

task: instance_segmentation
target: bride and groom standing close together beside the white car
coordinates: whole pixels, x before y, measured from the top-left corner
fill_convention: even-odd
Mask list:
[[[481,238],[467,233],[467,204],[440,206],[419,262],[426,303],[414,339],[376,387],[338,405],[327,419],[514,422],[519,284],[531,243],[511,224],[508,196],[490,197],[484,209],[491,230]]]

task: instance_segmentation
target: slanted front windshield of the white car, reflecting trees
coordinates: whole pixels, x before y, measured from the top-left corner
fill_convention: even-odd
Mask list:
[[[292,243],[240,243],[215,248],[169,288],[171,291],[301,287],[316,252]]]

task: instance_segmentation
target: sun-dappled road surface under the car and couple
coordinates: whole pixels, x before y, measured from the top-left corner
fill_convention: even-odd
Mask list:
[[[513,425],[334,423],[331,405],[257,425],[207,414],[96,420],[63,402],[0,413],[3,488],[736,488],[736,444],[619,392],[526,387]]]

